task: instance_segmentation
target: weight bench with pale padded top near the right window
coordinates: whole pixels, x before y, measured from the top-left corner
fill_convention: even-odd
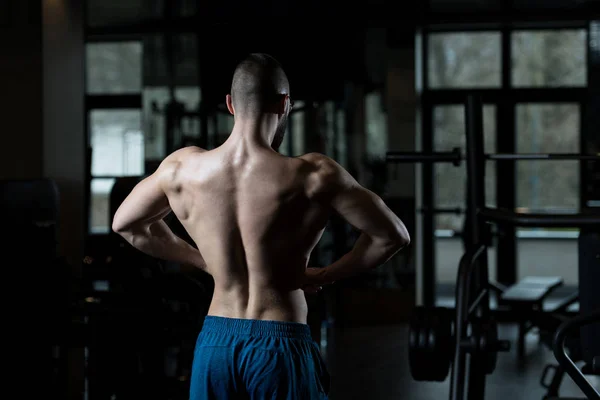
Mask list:
[[[532,321],[534,315],[543,311],[544,300],[562,284],[563,279],[558,276],[528,276],[500,293],[499,303],[509,307],[517,316],[519,359],[525,356],[525,336],[535,326]]]

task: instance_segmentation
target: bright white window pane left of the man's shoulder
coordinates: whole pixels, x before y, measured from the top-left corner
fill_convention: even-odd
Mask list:
[[[90,112],[92,176],[144,173],[144,135],[139,110]]]

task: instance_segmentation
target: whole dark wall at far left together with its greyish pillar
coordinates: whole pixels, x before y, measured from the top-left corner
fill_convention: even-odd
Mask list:
[[[0,12],[0,179],[57,182],[60,253],[76,265],[84,233],[82,5],[3,0]]]

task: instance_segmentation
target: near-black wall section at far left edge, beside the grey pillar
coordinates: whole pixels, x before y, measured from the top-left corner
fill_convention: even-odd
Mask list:
[[[42,176],[41,9],[0,2],[0,179]]]

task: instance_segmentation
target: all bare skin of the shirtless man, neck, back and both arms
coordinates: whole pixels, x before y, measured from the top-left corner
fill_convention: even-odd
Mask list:
[[[147,254],[212,275],[209,315],[306,323],[305,290],[381,265],[410,239],[383,201],[333,160],[272,150],[271,122],[236,121],[222,146],[171,154],[123,202],[113,229]],[[197,249],[162,221],[171,211]],[[336,263],[307,268],[332,212],[363,234]]]

